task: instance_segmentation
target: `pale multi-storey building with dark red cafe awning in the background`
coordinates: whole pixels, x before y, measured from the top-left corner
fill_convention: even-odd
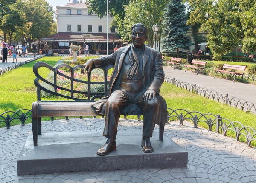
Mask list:
[[[73,0],[64,6],[56,7],[57,34],[40,39],[41,48],[48,43],[54,52],[67,53],[69,45],[89,45],[90,53],[107,53],[107,17],[99,18],[89,11],[83,1]],[[110,30],[113,17],[108,18],[109,53],[113,53],[116,45],[123,46],[127,42],[116,37],[115,30]]]

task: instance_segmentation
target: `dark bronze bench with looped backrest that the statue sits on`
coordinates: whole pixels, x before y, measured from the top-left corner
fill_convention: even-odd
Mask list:
[[[48,68],[49,70],[53,71],[54,78],[53,83],[44,79],[39,73],[38,69],[41,67]],[[67,64],[60,64],[56,68],[48,65],[45,62],[37,62],[33,66],[33,72],[35,73],[35,80],[34,84],[37,87],[37,100],[32,104],[32,132],[33,132],[33,141],[34,146],[38,145],[38,135],[42,135],[42,117],[51,117],[52,121],[54,117],[62,116],[68,117],[71,116],[99,116],[96,111],[91,107],[91,105],[95,102],[95,99],[101,99],[104,96],[108,96],[108,84],[109,81],[107,80],[108,70],[113,68],[113,66],[106,66],[97,69],[102,69],[104,72],[104,82],[93,82],[91,81],[91,72],[87,73],[88,79],[87,81],[76,79],[74,77],[75,71],[79,70],[81,72],[81,68],[83,65],[76,65],[75,67],[71,67]],[[70,76],[65,75],[64,73],[59,72],[60,68],[66,68],[70,70]],[[66,79],[70,79],[71,87],[63,88],[57,85],[57,75],[62,76]],[[53,91],[47,89],[46,87],[42,86],[42,82],[49,84],[53,87]],[[82,84],[88,85],[88,91],[78,91],[74,88],[74,82],[79,82]],[[104,85],[104,92],[91,92],[91,85],[92,84],[103,84]],[[58,90],[64,90],[70,93],[70,96],[62,95],[58,93]],[[50,93],[55,96],[60,96],[66,99],[71,99],[70,101],[42,101],[41,100],[41,91]],[[74,94],[82,94],[86,95],[87,99],[75,97]],[[138,118],[140,115],[143,115],[143,110],[137,107],[135,104],[131,104],[128,107],[125,107],[122,110],[121,115],[137,115]],[[164,126],[159,127],[159,141],[163,141],[163,132]]]

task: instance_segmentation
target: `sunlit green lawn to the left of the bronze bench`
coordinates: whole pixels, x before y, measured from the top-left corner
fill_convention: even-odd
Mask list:
[[[5,111],[31,109],[32,102],[37,100],[33,65],[41,61],[54,66],[59,59],[61,57],[45,56],[0,76],[0,114]],[[40,69],[41,76],[47,77],[48,73],[46,68]]]

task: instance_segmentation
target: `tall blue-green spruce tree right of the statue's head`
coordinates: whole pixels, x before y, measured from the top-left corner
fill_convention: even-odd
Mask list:
[[[179,57],[179,48],[189,48],[189,36],[186,32],[189,26],[186,25],[186,7],[182,0],[172,0],[165,8],[163,19],[163,47],[164,51],[177,51]]]

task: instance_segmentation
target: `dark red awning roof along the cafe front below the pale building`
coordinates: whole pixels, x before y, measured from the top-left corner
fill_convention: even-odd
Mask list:
[[[56,34],[53,34],[49,37],[46,37],[45,39],[70,39],[70,35],[82,35],[82,34],[92,34],[93,36],[103,36],[104,39],[107,39],[107,33],[77,33],[77,32],[58,32]],[[108,39],[120,39],[115,37],[114,33],[108,34]]]

